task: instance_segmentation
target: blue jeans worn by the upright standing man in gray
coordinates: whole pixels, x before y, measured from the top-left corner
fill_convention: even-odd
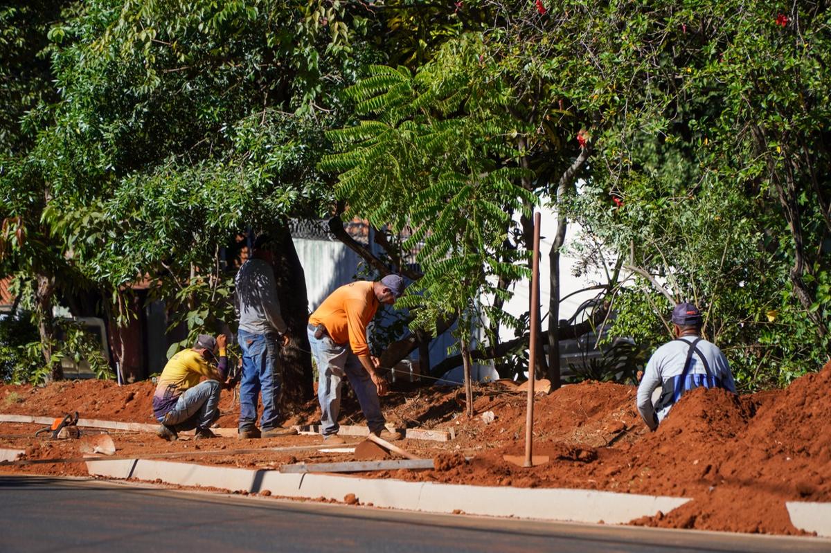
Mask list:
[[[278,335],[252,334],[239,330],[237,338],[243,350],[243,374],[239,381],[239,429],[253,428],[257,421],[258,394],[263,394],[260,428],[279,426],[280,391],[283,374],[278,365]]]

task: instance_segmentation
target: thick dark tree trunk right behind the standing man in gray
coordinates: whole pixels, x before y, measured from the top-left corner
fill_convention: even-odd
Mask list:
[[[288,325],[288,345],[280,351],[283,367],[283,404],[298,405],[312,399],[312,356],[306,327],[309,302],[306,274],[297,257],[292,235],[288,229],[276,233],[274,265],[278,267],[277,295],[280,311]]]

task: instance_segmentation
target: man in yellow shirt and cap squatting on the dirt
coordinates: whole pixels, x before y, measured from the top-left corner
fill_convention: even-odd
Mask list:
[[[173,441],[179,438],[177,432],[193,428],[196,439],[216,438],[210,426],[219,418],[220,383],[228,376],[227,341],[224,334],[215,339],[200,334],[194,347],[167,362],[153,394],[153,416],[161,423],[159,438]],[[208,379],[199,382],[203,376]]]

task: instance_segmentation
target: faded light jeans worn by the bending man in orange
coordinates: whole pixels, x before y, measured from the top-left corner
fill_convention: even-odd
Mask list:
[[[349,345],[336,344],[326,335],[318,340],[314,337],[314,330],[308,330],[308,336],[312,355],[317,363],[317,399],[320,401],[321,433],[331,436],[337,434],[340,428],[337,415],[341,411],[341,384],[344,375],[355,390],[370,432],[383,430],[386,421],[381,414],[378,389],[361,365],[361,361],[352,354]]]

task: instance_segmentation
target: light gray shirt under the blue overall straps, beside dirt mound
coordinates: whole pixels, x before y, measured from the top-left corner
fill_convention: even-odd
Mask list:
[[[679,376],[684,372],[687,351],[690,350],[690,344],[693,340],[696,340],[696,337],[684,336],[681,338],[683,341],[672,340],[667,342],[655,350],[655,353],[649,358],[647,368],[643,371],[641,384],[637,387],[637,410],[641,412],[643,421],[652,430],[657,428],[652,419],[652,414],[655,413],[655,406],[652,404],[652,392],[656,388],[661,388],[673,376]],[[725,389],[735,394],[735,382],[733,381],[733,374],[730,373],[730,365],[728,365],[727,358],[721,353],[718,346],[707,340],[701,340],[696,347],[706,357],[707,365],[710,366],[713,376],[720,379],[721,385]],[[704,364],[701,363],[698,355],[692,355],[690,363],[692,365],[690,374],[706,374]],[[671,405],[667,405],[657,412],[658,421],[666,417],[671,407]]]

